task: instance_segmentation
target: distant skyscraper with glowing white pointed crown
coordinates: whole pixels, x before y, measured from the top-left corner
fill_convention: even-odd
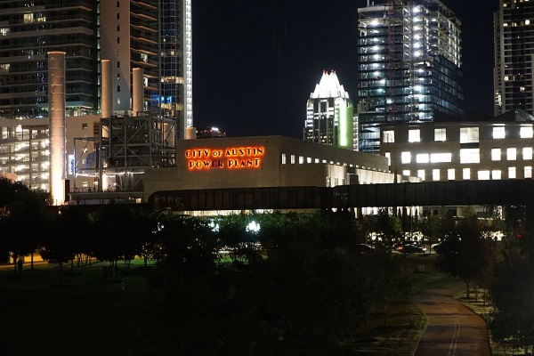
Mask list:
[[[336,72],[323,72],[306,104],[304,141],[357,150],[352,100]]]

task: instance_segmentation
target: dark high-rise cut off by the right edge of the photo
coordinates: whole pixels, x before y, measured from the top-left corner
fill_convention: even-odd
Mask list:
[[[500,0],[494,26],[495,116],[514,109],[534,115],[534,2]]]

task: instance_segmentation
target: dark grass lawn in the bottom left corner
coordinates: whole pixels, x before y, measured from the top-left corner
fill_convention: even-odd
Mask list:
[[[65,266],[28,263],[15,276],[0,268],[3,354],[127,355],[135,347],[136,313],[144,296],[142,269],[104,278],[108,263]],[[124,282],[124,289],[123,283]]]

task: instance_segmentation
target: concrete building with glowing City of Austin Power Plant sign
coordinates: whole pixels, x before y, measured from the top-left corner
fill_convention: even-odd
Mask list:
[[[175,168],[145,170],[145,201],[158,190],[334,187],[395,181],[387,158],[283,136],[184,140],[177,142],[176,152]]]

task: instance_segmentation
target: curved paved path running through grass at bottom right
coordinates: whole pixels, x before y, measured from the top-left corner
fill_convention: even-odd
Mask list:
[[[415,302],[428,317],[415,356],[491,355],[485,322],[453,298],[463,289],[463,282],[455,282],[415,295]]]

